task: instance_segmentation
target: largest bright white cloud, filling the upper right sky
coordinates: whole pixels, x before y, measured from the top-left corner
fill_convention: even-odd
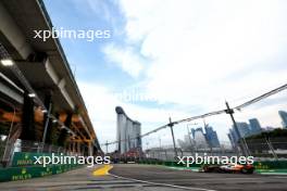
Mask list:
[[[121,5],[128,44],[141,44],[140,53],[152,59],[146,88],[162,101],[210,109],[287,79],[287,67],[269,72],[287,48],[284,1],[122,0]],[[246,71],[241,78],[230,76],[239,71]]]

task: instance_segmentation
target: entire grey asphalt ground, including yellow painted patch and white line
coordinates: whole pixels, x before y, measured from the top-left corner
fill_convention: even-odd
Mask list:
[[[287,190],[285,175],[207,174],[165,166],[116,164],[82,167],[64,174],[1,182],[0,190]]]

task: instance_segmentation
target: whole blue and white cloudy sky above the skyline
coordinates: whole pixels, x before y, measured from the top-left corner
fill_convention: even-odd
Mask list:
[[[232,106],[287,81],[287,1],[45,0],[57,28],[108,29],[61,39],[100,142],[115,139],[116,105],[142,132]],[[280,126],[285,92],[237,114]],[[207,118],[227,140],[229,118]],[[186,125],[183,125],[186,126]],[[183,129],[177,133],[183,133]]]

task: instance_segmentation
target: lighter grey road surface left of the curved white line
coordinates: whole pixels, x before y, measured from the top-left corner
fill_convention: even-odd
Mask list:
[[[64,174],[0,182],[0,191],[58,191],[58,190],[107,190],[107,191],[179,191],[182,189],[154,186],[113,176],[95,176],[96,168],[78,168]]]

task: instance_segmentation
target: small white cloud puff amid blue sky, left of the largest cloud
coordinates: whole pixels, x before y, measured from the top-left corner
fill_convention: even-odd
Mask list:
[[[141,59],[133,51],[132,48],[120,48],[114,44],[108,44],[103,49],[105,59],[120,66],[132,77],[138,77],[142,69]]]

